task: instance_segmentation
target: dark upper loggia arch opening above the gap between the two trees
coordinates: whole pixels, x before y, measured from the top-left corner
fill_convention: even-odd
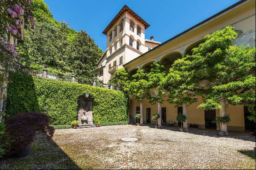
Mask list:
[[[166,67],[166,71],[169,72],[169,69],[172,67],[172,64],[174,63],[174,61],[181,58],[182,56],[180,52],[173,52],[164,56],[160,60],[160,64],[164,65]]]

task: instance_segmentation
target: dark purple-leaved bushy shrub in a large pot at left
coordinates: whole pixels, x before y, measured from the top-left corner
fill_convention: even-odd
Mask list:
[[[8,136],[8,155],[12,157],[28,156],[35,142],[36,131],[52,138],[54,128],[49,126],[49,116],[43,113],[20,113],[5,121]]]

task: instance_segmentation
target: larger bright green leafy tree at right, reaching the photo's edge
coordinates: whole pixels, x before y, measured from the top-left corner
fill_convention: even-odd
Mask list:
[[[236,37],[232,26],[206,35],[205,42],[193,48],[191,56],[175,61],[173,69],[186,77],[181,86],[185,91],[203,96],[199,107],[212,110],[225,108],[226,102],[243,104],[254,108],[250,118],[255,121],[255,47],[232,45]]]

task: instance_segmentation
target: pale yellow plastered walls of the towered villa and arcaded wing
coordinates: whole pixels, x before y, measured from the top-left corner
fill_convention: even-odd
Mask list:
[[[130,20],[134,20],[135,24],[140,24],[137,20],[135,20],[130,14],[124,13],[123,16],[125,18],[124,27],[129,25]],[[122,18],[120,17],[120,19]],[[118,22],[117,22],[118,23]],[[133,32],[129,30],[129,27],[124,28],[124,31],[120,33],[123,37],[123,42],[129,45],[129,36],[134,36],[134,41],[140,40],[141,47],[139,54],[134,52],[131,49],[124,48],[124,51],[116,53],[114,55],[110,55],[108,50],[112,45],[111,42],[107,41],[107,52],[105,53],[105,57],[99,61],[98,68],[101,68],[100,65],[105,62],[105,65],[108,63],[113,63],[115,59],[118,59],[119,56],[123,56],[122,65],[118,65],[119,68],[125,67],[128,71],[134,71],[135,69],[143,68],[151,62],[158,61],[163,62],[168,57],[169,59],[176,59],[177,57],[182,57],[184,54],[189,52],[189,50],[197,45],[198,43],[204,40],[204,36],[207,34],[211,34],[212,32],[222,29],[226,26],[234,26],[236,30],[241,30],[242,33],[234,40],[234,44],[236,45],[249,45],[250,47],[255,46],[255,0],[244,0],[230,6],[230,8],[221,11],[220,13],[210,17],[208,20],[199,23],[198,25],[190,28],[187,31],[173,37],[172,39],[166,41],[163,44],[150,43],[150,41],[145,40],[145,29],[142,25],[142,34],[141,37],[138,37]],[[111,28],[112,30],[112,28]],[[134,31],[136,32],[136,31]],[[108,32],[109,34],[109,32]],[[118,36],[117,36],[118,37]],[[115,41],[117,39],[113,39]],[[136,43],[134,43],[136,44]],[[154,46],[155,45],[155,46]],[[148,51],[149,48],[153,48]],[[136,49],[136,46],[133,46]],[[146,49],[147,48],[147,49]],[[145,53],[148,51],[147,53]],[[145,54],[144,54],[145,53]],[[110,57],[109,57],[110,56]],[[176,58],[175,58],[176,57]],[[104,60],[104,61],[103,61]],[[119,64],[119,63],[117,63]],[[104,69],[104,67],[102,67]],[[99,71],[96,70],[96,71]],[[98,74],[99,75],[99,74]],[[102,76],[103,82],[107,82],[109,79],[114,77],[114,74],[106,74]],[[99,77],[100,79],[101,77]],[[105,79],[105,80],[104,80]],[[166,94],[168,95],[168,94]],[[166,99],[165,99],[166,100]],[[202,103],[202,99],[198,96],[198,102],[193,103],[192,105],[187,106],[187,123],[197,124],[199,128],[207,128],[206,127],[206,118],[205,111],[201,108],[198,108],[198,105]],[[130,100],[130,119],[134,119],[137,109],[140,107],[140,103],[135,101],[132,96]],[[162,108],[166,109],[166,120],[174,120],[176,119],[178,108],[174,105],[163,102],[161,104]],[[143,123],[147,123],[147,108],[150,108],[150,116],[154,113],[157,113],[157,104],[151,105],[148,101],[143,102]],[[227,113],[230,115],[231,122],[227,124],[227,130],[233,131],[244,131],[244,106],[243,105],[228,105]],[[216,110],[215,115],[219,116],[220,111]],[[150,121],[151,123],[154,123]],[[175,123],[177,125],[177,122]]]

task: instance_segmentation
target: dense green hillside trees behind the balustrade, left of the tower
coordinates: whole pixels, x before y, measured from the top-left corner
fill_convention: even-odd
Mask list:
[[[18,52],[26,67],[43,69],[55,74],[75,72],[77,81],[91,82],[96,62],[103,52],[86,31],[77,32],[65,21],[56,21],[44,0],[33,0],[35,28],[27,27],[25,40],[18,42]]]

